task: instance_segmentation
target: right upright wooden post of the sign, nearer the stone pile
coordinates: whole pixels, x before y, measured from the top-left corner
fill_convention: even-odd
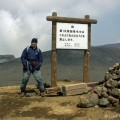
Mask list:
[[[89,20],[89,15],[85,16],[86,20]],[[84,66],[83,66],[83,82],[88,83],[89,69],[90,69],[90,46],[91,46],[91,24],[88,24],[88,49],[84,50]]]

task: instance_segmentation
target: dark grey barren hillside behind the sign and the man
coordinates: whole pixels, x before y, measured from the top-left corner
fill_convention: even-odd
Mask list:
[[[90,80],[103,80],[108,67],[120,61],[120,44],[110,44],[91,47]],[[58,79],[82,80],[83,56],[81,50],[57,50]],[[41,68],[42,77],[50,83],[51,51],[43,52],[44,63]],[[33,79],[33,77],[31,77]],[[0,64],[0,86],[19,85],[22,80],[22,65],[20,59]],[[35,81],[30,80],[29,84]]]

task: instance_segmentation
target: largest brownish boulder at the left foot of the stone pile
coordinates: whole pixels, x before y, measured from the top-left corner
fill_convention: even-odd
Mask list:
[[[96,106],[99,103],[98,95],[94,92],[89,92],[80,96],[78,107],[89,108]]]

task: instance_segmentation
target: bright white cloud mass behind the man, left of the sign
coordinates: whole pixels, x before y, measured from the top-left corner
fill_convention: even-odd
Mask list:
[[[33,37],[39,39],[38,46],[42,51],[50,50],[51,26],[46,24],[45,18],[41,17],[40,13],[31,13],[25,6],[22,6],[18,12],[18,16],[14,17],[8,11],[0,11],[0,36],[2,39],[0,54],[11,53],[19,57],[22,50],[30,45]]]

